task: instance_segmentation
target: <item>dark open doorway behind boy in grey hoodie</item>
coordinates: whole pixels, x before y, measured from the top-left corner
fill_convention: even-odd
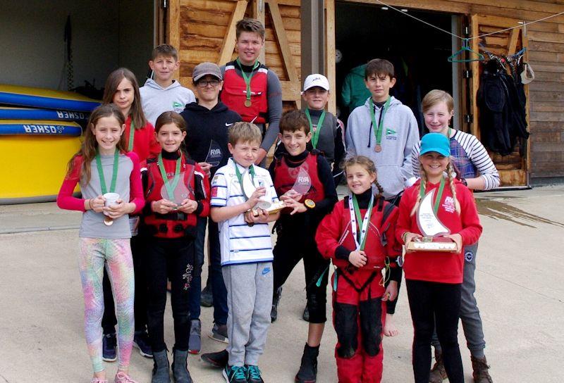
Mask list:
[[[458,28],[458,17],[448,13],[403,11],[443,30],[450,31],[453,25]],[[364,77],[364,72],[358,69],[360,65],[372,58],[385,58],[396,70],[397,82],[391,95],[412,109],[421,134],[424,132],[421,100],[429,90],[443,89],[453,94],[455,105],[458,104],[458,73],[454,72],[458,67],[447,61],[453,52],[453,40],[448,34],[374,4],[337,1],[335,15],[336,49],[342,56],[336,63],[337,94],[341,94],[349,73]],[[362,92],[362,89],[356,90]],[[369,93],[364,100],[368,96]],[[346,121],[358,102],[345,105],[342,97],[338,98],[341,120]],[[454,123],[458,125],[456,118]]]

